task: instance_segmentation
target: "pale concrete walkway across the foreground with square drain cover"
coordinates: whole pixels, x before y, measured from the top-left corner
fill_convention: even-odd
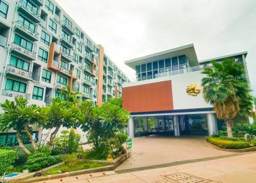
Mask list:
[[[53,182],[76,182],[76,183],[255,183],[256,182],[256,153],[226,157],[211,161],[181,164],[166,168],[134,171],[131,173],[115,173],[108,171],[92,173],[77,177],[67,177],[44,181]],[[43,183],[43,182],[40,182]]]

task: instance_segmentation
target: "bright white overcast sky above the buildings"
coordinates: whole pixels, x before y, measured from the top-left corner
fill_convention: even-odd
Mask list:
[[[256,96],[254,0],[56,0],[134,81],[125,60],[195,45],[198,60],[248,51]]]

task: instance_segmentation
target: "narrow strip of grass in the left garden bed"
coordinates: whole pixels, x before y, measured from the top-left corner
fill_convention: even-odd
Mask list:
[[[88,168],[96,168],[96,167],[106,166],[106,165],[108,164],[79,160],[77,161],[77,163],[74,163],[72,166],[70,166],[70,164],[61,164],[60,166],[56,166],[55,168],[45,171],[43,175],[45,176],[45,175],[52,175],[56,173],[65,173],[69,171],[84,170]]]

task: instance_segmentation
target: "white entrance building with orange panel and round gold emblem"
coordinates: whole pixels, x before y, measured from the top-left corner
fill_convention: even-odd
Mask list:
[[[129,136],[156,133],[212,135],[224,124],[202,97],[202,68],[232,58],[244,65],[247,52],[198,61],[193,44],[125,61],[136,82],[123,84],[123,106],[131,112]]]

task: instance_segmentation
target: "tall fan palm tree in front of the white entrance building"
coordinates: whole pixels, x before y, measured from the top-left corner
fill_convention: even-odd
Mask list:
[[[243,65],[232,59],[212,61],[212,67],[205,67],[202,74],[204,100],[213,105],[216,116],[224,120],[228,137],[232,138],[232,121],[237,115],[252,113],[248,82],[244,78]]]

